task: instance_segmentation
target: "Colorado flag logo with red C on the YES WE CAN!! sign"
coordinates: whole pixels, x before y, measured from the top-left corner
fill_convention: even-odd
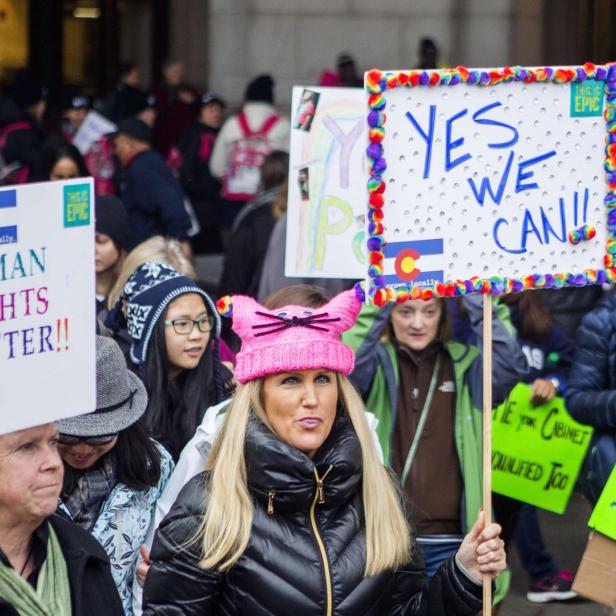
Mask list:
[[[433,285],[443,282],[443,240],[417,240],[415,242],[390,242],[383,247],[385,267],[395,274],[383,276],[388,285]],[[388,267],[389,266],[389,267]]]

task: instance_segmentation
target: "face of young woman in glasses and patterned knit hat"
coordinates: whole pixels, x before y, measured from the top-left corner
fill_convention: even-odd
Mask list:
[[[203,298],[196,293],[187,293],[176,297],[167,308],[166,321],[175,321],[175,328],[186,326],[183,321],[200,321],[207,319],[209,313],[205,308]],[[202,332],[196,323],[189,323],[192,329],[189,334],[176,333],[174,326],[165,325],[165,345],[167,347],[167,363],[169,376],[176,377],[182,370],[196,368],[210,340],[210,332]],[[202,327],[207,328],[207,321]]]

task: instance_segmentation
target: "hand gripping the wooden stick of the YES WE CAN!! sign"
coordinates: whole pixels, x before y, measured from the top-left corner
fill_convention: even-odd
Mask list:
[[[479,512],[473,528],[462,541],[456,554],[458,563],[478,582],[484,575],[496,578],[507,567],[505,542],[498,524],[485,526],[485,515]]]

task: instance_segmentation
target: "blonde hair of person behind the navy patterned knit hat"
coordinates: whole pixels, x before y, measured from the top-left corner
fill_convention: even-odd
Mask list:
[[[133,248],[124,259],[122,269],[107,298],[108,308],[113,308],[120,299],[122,289],[131,274],[140,265],[148,261],[160,261],[170,265],[180,274],[185,274],[193,280],[197,277],[191,262],[184,256],[182,245],[178,240],[162,237],[162,235],[154,235]]]

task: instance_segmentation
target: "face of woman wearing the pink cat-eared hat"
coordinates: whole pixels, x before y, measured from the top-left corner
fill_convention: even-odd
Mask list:
[[[274,432],[312,457],[336,418],[336,373],[319,369],[270,374],[263,379],[262,401]]]

